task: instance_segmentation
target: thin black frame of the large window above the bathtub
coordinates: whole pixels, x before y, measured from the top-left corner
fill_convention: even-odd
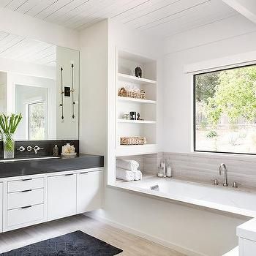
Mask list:
[[[197,74],[193,74],[193,151],[194,152],[201,152],[201,153],[215,153],[215,154],[238,154],[238,155],[245,155],[245,156],[255,156],[255,154],[252,153],[241,153],[241,152],[225,152],[225,151],[205,151],[205,150],[197,150],[196,149],[196,125],[197,125],[197,121],[196,121],[196,86],[195,86],[195,78],[197,75],[203,75],[203,74],[209,74],[209,73],[213,73],[213,72],[218,72],[218,71],[225,71],[225,70],[230,70],[230,69],[238,69],[241,67],[251,67],[251,66],[255,66],[256,67],[256,63],[255,64],[245,64],[245,65],[241,65],[241,66],[236,66],[236,67],[226,67],[223,69],[215,69],[213,71],[206,71],[206,72],[200,72]]]

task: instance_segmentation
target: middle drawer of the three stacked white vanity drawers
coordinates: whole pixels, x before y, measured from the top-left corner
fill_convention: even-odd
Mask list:
[[[34,206],[44,203],[44,189],[24,190],[7,195],[7,209]]]

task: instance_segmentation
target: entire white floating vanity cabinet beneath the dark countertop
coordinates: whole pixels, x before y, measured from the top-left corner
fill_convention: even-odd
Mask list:
[[[102,167],[0,179],[0,233],[102,207]]]

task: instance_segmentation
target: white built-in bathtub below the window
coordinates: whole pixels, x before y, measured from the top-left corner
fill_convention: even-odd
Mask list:
[[[158,185],[159,190],[151,190]],[[143,181],[122,182],[123,187],[136,192],[213,208],[246,217],[256,217],[256,191],[244,191],[232,187],[197,184],[173,178],[144,178]]]

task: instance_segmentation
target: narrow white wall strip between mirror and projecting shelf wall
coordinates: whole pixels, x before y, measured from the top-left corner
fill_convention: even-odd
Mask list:
[[[108,20],[80,34],[80,151],[107,156]]]

